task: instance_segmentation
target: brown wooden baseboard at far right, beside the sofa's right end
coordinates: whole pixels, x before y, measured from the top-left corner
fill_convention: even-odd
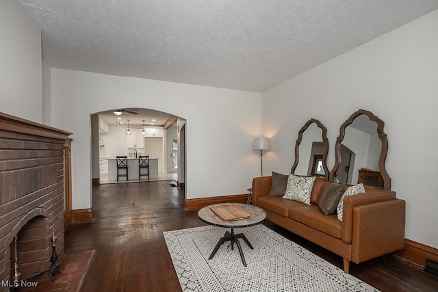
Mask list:
[[[424,267],[427,258],[438,261],[438,249],[410,239],[404,239],[404,249],[394,252],[394,256]]]

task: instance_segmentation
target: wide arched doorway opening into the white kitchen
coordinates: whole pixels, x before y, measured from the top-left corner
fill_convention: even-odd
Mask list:
[[[112,164],[119,155],[129,159],[136,159],[140,155],[153,157],[157,163],[157,176],[150,180],[184,181],[179,178],[179,169],[185,168],[185,159],[181,161],[179,157],[185,139],[180,141],[178,129],[185,127],[185,119],[144,108],[111,109],[91,114],[90,117],[93,184],[116,181]],[[177,152],[174,144],[179,146]],[[172,167],[173,161],[177,161],[176,168]],[[139,179],[131,176],[127,181]],[[147,179],[147,176],[142,177],[142,180]]]

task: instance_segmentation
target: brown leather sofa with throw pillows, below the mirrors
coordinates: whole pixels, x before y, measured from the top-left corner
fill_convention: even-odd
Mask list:
[[[253,204],[266,211],[270,222],[342,256],[347,274],[350,261],[361,263],[404,248],[406,203],[396,192],[365,187],[363,194],[346,196],[340,221],[336,213],[324,215],[318,207],[331,182],[315,179],[309,206],[270,196],[271,178],[253,179]]]

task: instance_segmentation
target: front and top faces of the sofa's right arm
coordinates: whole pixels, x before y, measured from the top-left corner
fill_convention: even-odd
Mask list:
[[[344,208],[342,211],[342,241],[350,244],[352,241],[353,226],[353,208],[363,204],[372,204],[374,202],[382,202],[387,200],[395,200],[395,191],[382,191],[372,194],[358,194],[344,197]]]

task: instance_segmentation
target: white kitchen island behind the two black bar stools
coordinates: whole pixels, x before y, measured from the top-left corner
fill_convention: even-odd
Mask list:
[[[149,179],[158,178],[158,159],[149,158]],[[125,174],[125,170],[120,170],[120,174]],[[142,170],[146,173],[146,170]],[[148,176],[142,176],[141,181],[147,181]],[[117,181],[117,162],[116,158],[108,159],[108,181]],[[122,176],[118,181],[126,181],[125,176]],[[128,158],[128,181],[138,181],[138,158]]]

